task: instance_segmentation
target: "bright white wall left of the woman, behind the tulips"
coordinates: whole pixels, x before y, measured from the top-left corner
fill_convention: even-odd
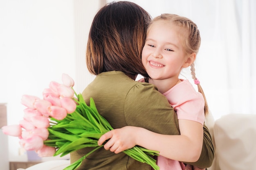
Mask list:
[[[7,124],[22,119],[23,94],[42,97],[50,81],[61,82],[62,73],[74,78],[76,92],[92,81],[85,44],[100,2],[0,0],[0,103],[7,103]],[[9,161],[26,160],[18,138],[8,141]]]

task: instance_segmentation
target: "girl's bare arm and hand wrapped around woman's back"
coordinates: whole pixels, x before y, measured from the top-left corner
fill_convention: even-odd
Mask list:
[[[114,129],[101,136],[98,144],[110,139],[105,145],[106,150],[120,153],[135,145],[159,151],[159,155],[177,161],[195,162],[202,150],[202,124],[191,120],[179,120],[181,135],[162,135],[144,128],[125,126]]]

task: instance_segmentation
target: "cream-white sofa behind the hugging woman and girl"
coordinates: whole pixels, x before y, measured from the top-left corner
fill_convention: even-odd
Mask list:
[[[213,137],[215,158],[208,170],[256,170],[256,115],[228,114],[206,124]],[[65,161],[47,161],[26,170],[62,170]]]

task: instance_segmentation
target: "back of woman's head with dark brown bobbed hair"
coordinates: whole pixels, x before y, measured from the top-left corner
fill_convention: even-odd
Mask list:
[[[141,52],[150,21],[150,15],[132,2],[111,2],[102,7],[94,17],[88,37],[89,72],[97,75],[123,71],[146,76]]]

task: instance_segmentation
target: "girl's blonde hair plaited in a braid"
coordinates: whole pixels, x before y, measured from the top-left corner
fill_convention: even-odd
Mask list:
[[[183,43],[186,54],[192,54],[193,52],[195,52],[195,54],[198,53],[200,44],[201,44],[201,37],[200,37],[200,32],[198,30],[198,27],[193,21],[189,20],[186,17],[181,17],[179,15],[164,13],[162,15],[155,17],[151,21],[150,26],[148,27],[148,30],[150,30],[151,25],[157,21],[166,21],[168,23],[172,23],[172,24],[175,24],[175,26],[180,27],[181,30],[184,32],[182,33],[181,36],[182,36],[182,43]],[[197,78],[195,76],[195,63],[193,62],[190,65],[190,67],[191,67],[192,78],[194,81],[197,81]],[[209,113],[209,109],[208,109],[207,100],[204,95],[204,91],[200,84],[197,84],[197,86],[198,86],[198,92],[200,92],[204,97],[204,102],[205,102],[204,114],[207,115]]]

